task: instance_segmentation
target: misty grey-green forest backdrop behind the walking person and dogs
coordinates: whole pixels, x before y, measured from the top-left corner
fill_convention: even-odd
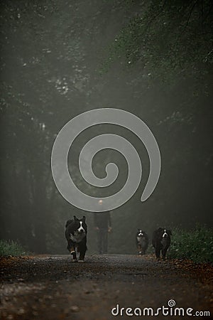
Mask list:
[[[107,196],[127,177],[112,150],[94,158],[104,177],[115,162],[122,174],[99,191],[78,170],[82,146],[105,132],[121,134],[143,163],[141,185],[111,213],[109,252],[135,253],[134,234],[159,226],[212,226],[212,1],[1,1],[1,239],[31,252],[67,253],[65,221],[86,215],[89,253],[97,252],[93,214],[60,196],[50,169],[53,142],[77,114],[112,107],[133,112],[151,128],[162,171],[141,203],[149,161],[128,130],[97,125],[70,150],[72,178],[82,191]]]

